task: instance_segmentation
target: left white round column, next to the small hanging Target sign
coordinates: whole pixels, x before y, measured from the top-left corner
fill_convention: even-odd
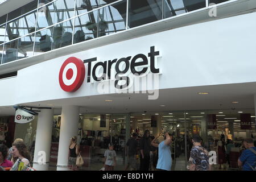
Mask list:
[[[36,129],[33,168],[48,171],[52,141],[53,109],[40,109]]]

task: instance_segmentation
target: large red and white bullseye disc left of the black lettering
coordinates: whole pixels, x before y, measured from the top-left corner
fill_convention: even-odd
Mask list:
[[[75,92],[82,85],[84,77],[84,62],[76,57],[69,57],[60,68],[60,87],[66,92]]]

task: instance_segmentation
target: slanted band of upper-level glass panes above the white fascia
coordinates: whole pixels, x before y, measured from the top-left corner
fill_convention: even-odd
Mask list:
[[[35,0],[0,17],[0,64],[226,1]]]

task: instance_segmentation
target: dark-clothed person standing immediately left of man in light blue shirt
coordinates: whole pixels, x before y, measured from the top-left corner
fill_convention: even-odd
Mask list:
[[[140,160],[141,166],[139,167],[140,171],[148,171],[150,166],[150,131],[145,130],[144,135],[140,140],[139,148],[141,151]]]

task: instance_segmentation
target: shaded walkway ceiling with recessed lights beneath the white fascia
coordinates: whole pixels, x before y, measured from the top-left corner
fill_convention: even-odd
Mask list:
[[[199,92],[208,92],[201,95]],[[254,108],[256,82],[191,88],[163,89],[156,100],[148,100],[148,94],[109,94],[76,97],[62,100],[23,103],[34,107],[54,107],[61,113],[63,105],[80,106],[80,113],[147,113],[156,111],[223,110],[237,113]],[[106,101],[108,100],[108,101]],[[232,102],[238,102],[233,104]],[[254,111],[254,109],[253,109]],[[0,115],[14,114],[13,106],[0,107]]]

